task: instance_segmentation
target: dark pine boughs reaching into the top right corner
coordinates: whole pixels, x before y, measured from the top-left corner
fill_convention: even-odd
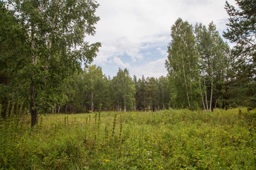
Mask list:
[[[223,36],[235,42],[236,55],[248,57],[250,62],[256,61],[256,1],[255,0],[235,0],[240,9],[228,4],[225,9],[228,12],[228,29]]]

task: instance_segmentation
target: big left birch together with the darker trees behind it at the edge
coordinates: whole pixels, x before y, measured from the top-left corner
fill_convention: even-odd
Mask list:
[[[9,0],[0,5],[1,101],[16,100],[15,94],[30,101],[33,126],[38,112],[65,103],[65,81],[96,57],[100,42],[90,45],[84,39],[95,35],[99,5],[63,0]]]

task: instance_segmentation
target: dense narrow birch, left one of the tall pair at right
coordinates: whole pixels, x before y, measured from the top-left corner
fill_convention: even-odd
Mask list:
[[[195,50],[193,26],[178,18],[171,27],[166,68],[169,72],[175,105],[179,108],[198,107],[198,57]]]

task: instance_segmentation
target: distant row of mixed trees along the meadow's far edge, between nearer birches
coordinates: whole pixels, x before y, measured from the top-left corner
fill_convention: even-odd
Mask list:
[[[113,78],[96,65],[70,77],[68,100],[58,103],[62,113],[88,111],[154,111],[169,108],[167,77],[132,78],[127,69],[119,69]],[[59,109],[53,109],[57,112]]]

